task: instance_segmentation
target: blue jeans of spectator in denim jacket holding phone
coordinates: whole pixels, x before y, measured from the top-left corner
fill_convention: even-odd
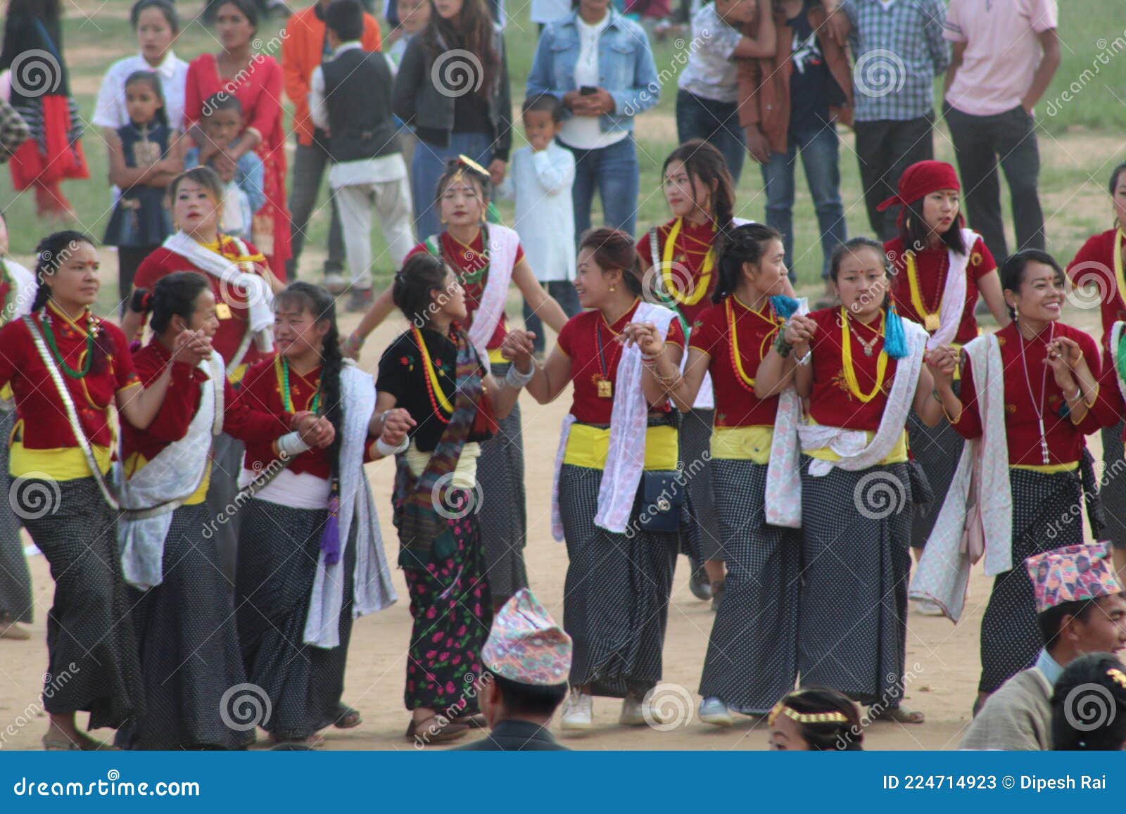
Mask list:
[[[577,150],[563,142],[560,144],[574,153],[574,186],[571,187],[574,239],[582,240],[583,232],[590,229],[590,205],[595,200],[596,186],[602,200],[606,225],[633,234],[641,184],[637,145],[633,136],[627,135],[617,144],[598,150]]]

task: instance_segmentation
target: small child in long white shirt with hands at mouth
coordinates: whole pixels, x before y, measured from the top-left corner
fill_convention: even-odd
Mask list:
[[[555,297],[568,319],[578,314],[574,293],[574,153],[555,143],[563,104],[551,93],[524,100],[524,133],[528,146],[512,154],[512,196],[516,232],[536,279]],[[524,302],[524,324],[536,334],[535,350],[544,352],[544,327]]]

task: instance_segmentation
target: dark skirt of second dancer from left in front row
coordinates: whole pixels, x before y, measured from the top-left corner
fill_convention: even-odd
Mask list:
[[[172,512],[163,581],[144,592],[129,589],[145,714],[118,730],[122,749],[241,749],[254,741],[253,728],[223,704],[247,674],[209,520],[204,503]]]

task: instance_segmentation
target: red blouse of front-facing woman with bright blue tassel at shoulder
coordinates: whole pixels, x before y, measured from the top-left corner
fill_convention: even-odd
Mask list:
[[[875,432],[884,415],[887,394],[895,381],[895,359],[888,357],[884,384],[867,404],[857,399],[844,378],[844,360],[841,339],[841,310],[823,308],[810,316],[817,323],[813,334],[813,391],[810,395],[810,414],[819,424],[842,427],[849,430]],[[879,351],[884,348],[883,336],[877,334],[879,320],[865,325],[859,320],[849,320],[849,338],[852,349],[852,369],[861,393],[870,393],[876,386]],[[872,356],[864,352],[860,340],[872,346]]]

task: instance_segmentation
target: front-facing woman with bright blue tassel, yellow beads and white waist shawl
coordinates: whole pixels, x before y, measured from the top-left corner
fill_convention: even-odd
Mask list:
[[[911,516],[927,491],[905,426],[912,409],[927,426],[942,418],[927,332],[900,319],[879,243],[848,241],[829,275],[841,306],[793,316],[756,381],[757,393],[778,392],[795,365],[795,393],[808,400],[805,422],[794,393],[779,403],[766,499],[769,521],[802,528],[797,669],[803,685],[838,689],[878,717],[922,723],[900,700]]]

